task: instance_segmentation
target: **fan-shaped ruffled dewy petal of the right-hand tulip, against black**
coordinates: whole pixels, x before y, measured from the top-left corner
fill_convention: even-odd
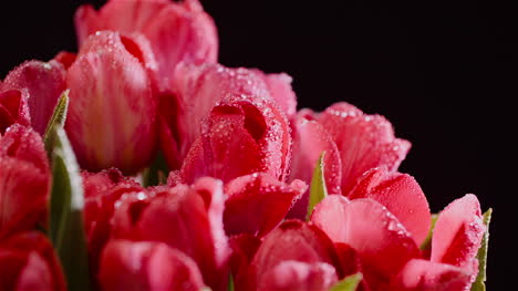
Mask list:
[[[342,160],[342,193],[348,195],[366,170],[386,166],[396,170],[411,144],[394,137],[391,123],[380,115],[363,114],[346,103],[336,103],[318,121],[336,143]]]

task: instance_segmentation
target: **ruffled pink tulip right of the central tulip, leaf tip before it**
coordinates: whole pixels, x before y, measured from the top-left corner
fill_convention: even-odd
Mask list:
[[[330,163],[324,163],[328,164],[327,181],[332,194],[338,189],[336,176],[341,177],[340,188],[346,196],[366,170],[374,167],[397,170],[411,147],[410,142],[394,136],[391,123],[383,116],[364,114],[344,102],[333,104],[319,114],[310,110],[301,111],[294,127],[291,178],[309,183],[308,177],[311,177],[318,156],[325,150],[328,159],[341,167],[336,170],[336,165],[329,168]]]

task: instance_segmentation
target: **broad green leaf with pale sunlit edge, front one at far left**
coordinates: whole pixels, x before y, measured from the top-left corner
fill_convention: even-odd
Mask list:
[[[86,291],[90,278],[81,175],[63,127],[54,125],[49,136],[53,137],[49,236],[61,260],[68,290]]]

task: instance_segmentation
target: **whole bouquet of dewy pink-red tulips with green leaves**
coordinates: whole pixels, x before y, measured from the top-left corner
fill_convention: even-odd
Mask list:
[[[485,290],[491,209],[431,214],[385,117],[219,64],[197,0],[75,29],[0,81],[0,290]]]

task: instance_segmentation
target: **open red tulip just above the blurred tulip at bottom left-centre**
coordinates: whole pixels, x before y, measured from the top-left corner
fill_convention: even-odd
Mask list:
[[[147,197],[123,197],[112,220],[112,237],[165,242],[193,258],[213,290],[222,290],[230,254],[222,225],[224,199],[221,181],[213,178]]]

